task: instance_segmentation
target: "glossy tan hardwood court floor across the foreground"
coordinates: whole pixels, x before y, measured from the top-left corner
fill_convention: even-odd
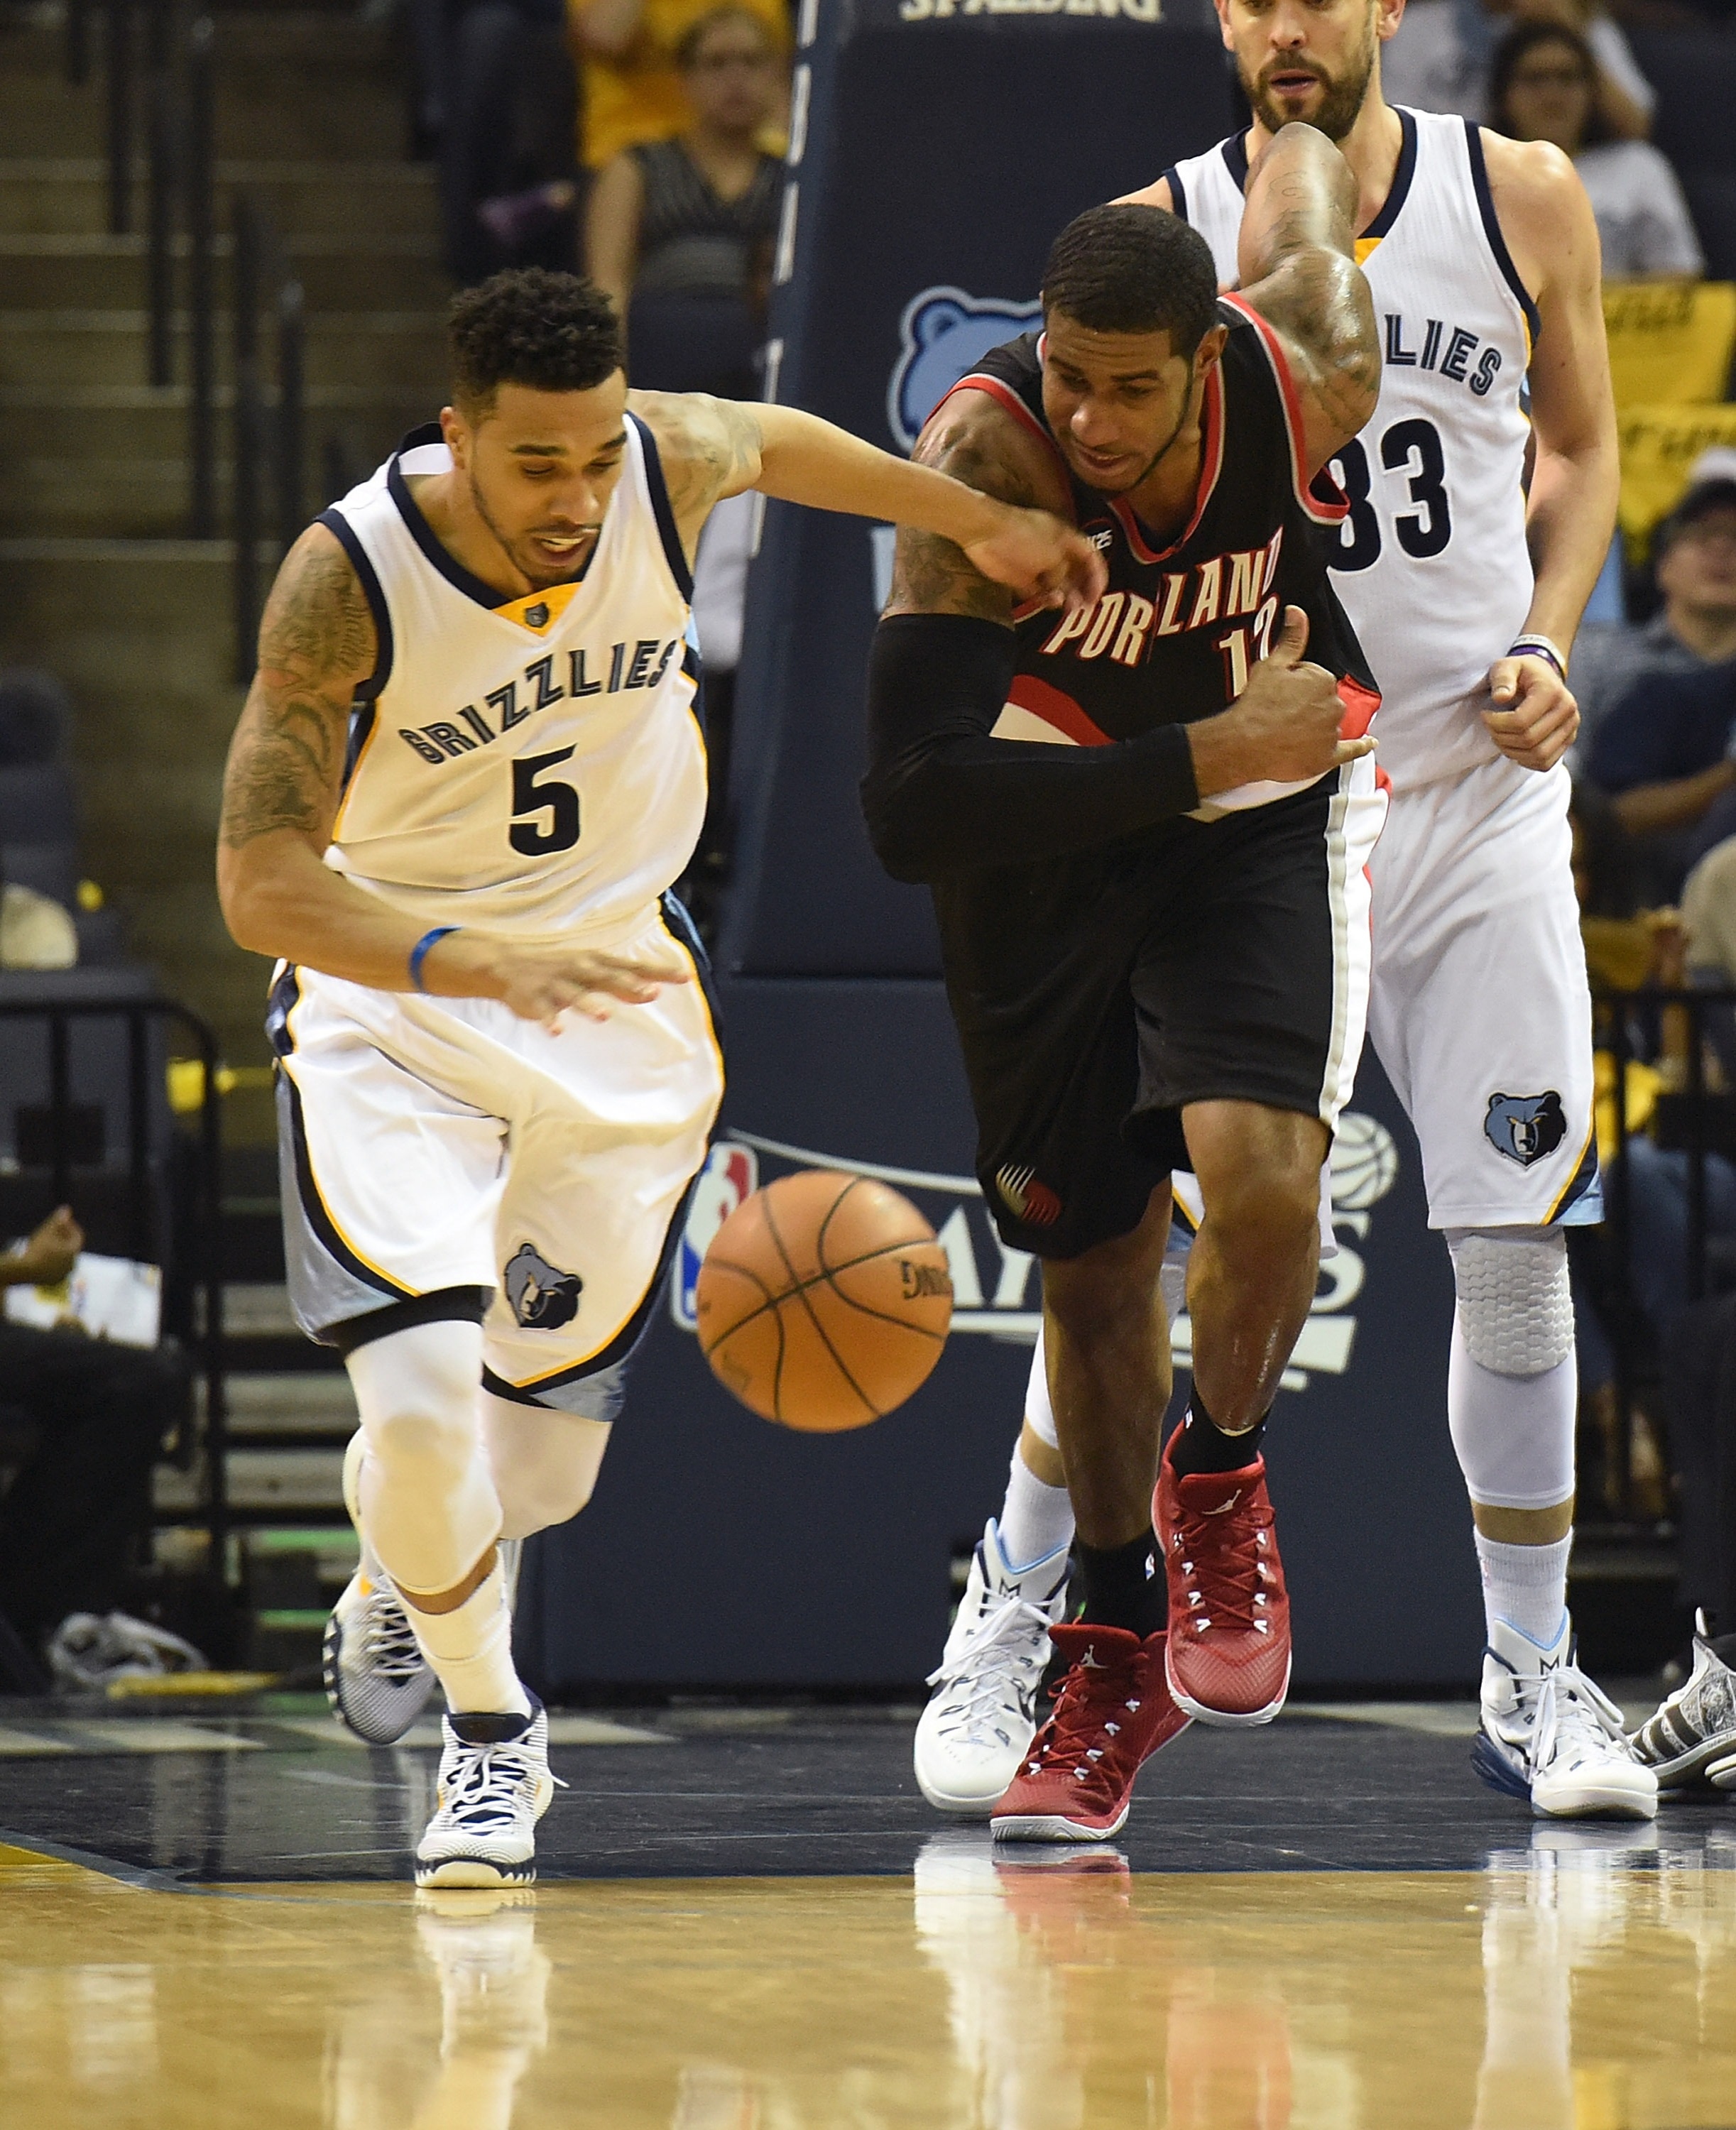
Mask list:
[[[0,1849],[9,2130],[1723,2130],[1736,1821],[1483,1872],[158,1891]]]

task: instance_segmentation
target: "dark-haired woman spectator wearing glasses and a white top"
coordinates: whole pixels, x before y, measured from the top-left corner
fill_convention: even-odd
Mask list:
[[[1706,271],[1676,173],[1651,141],[1610,132],[1598,60],[1578,30],[1521,21],[1489,68],[1489,124],[1553,141],[1591,198],[1606,281],[1698,279]]]

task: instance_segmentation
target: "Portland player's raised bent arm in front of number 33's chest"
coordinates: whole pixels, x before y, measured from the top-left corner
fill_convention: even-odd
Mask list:
[[[1380,341],[1357,266],[1357,181],[1312,126],[1284,126],[1248,173],[1238,266],[1242,294],[1291,358],[1301,471],[1314,475],[1374,413]]]

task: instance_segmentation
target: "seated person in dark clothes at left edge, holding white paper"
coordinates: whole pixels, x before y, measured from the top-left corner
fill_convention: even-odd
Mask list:
[[[0,1252],[0,1289],[60,1284],[83,1242],[60,1206]],[[15,1465],[0,1497],[0,1617],[32,1653],[68,1615],[124,1595],[151,1521],[151,1465],[185,1416],[175,1353],[0,1316],[0,1431]]]

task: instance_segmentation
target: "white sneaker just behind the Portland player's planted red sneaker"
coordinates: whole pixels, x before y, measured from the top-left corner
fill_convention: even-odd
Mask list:
[[[1018,1774],[1065,1600],[1067,1549],[1014,1574],[990,1517],[916,1725],[916,1781],[935,1810],[986,1819]]]

